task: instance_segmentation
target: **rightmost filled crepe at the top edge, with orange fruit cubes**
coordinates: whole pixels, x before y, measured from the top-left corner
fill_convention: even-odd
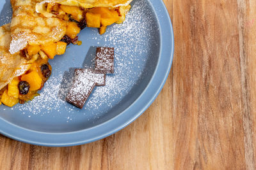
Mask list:
[[[97,27],[100,34],[113,23],[121,24],[132,0],[46,0],[36,3],[36,12],[44,17],[57,17],[76,22],[81,29]],[[82,22],[82,23],[81,23]]]

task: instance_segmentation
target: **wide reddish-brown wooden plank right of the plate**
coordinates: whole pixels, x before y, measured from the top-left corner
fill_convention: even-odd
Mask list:
[[[173,6],[175,169],[245,169],[237,1]]]

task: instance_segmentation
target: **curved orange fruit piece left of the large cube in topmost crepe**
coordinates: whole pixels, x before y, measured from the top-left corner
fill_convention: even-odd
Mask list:
[[[83,11],[77,6],[67,6],[61,4],[60,9],[65,11],[65,13],[72,15],[72,18],[78,22],[83,18]]]

